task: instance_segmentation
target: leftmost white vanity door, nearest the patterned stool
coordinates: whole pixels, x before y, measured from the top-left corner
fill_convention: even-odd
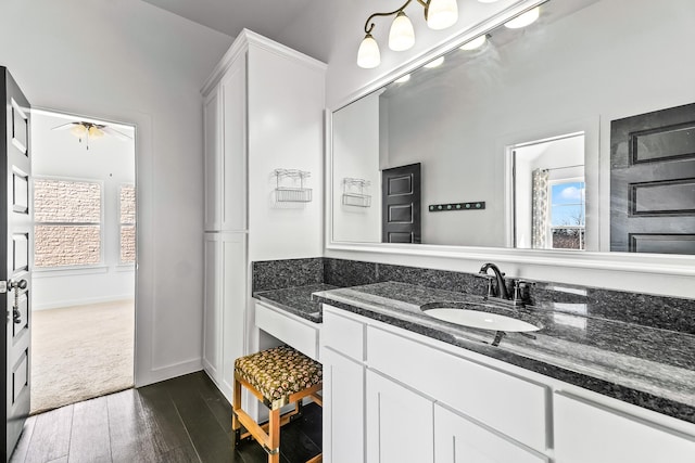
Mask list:
[[[324,461],[364,462],[364,366],[331,349],[324,364]]]

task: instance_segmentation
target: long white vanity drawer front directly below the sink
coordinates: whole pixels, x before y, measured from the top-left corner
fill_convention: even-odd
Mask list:
[[[374,326],[367,327],[367,365],[521,443],[547,449],[545,386]]]

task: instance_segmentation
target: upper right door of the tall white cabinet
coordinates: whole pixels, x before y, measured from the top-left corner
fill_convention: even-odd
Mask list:
[[[247,229],[247,61],[238,57],[219,82],[222,99],[220,230]]]

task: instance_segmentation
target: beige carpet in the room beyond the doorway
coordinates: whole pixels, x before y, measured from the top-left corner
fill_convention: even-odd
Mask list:
[[[132,300],[37,310],[31,413],[132,387]]]

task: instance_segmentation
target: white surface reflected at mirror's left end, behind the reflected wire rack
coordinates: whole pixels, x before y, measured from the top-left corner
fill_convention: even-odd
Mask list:
[[[333,240],[341,242],[381,241],[381,172],[379,171],[379,94],[372,93],[345,107],[333,117],[340,127],[332,139]],[[371,196],[369,207],[344,205],[344,178],[370,182],[364,193]],[[349,187],[349,192],[359,192]]]

